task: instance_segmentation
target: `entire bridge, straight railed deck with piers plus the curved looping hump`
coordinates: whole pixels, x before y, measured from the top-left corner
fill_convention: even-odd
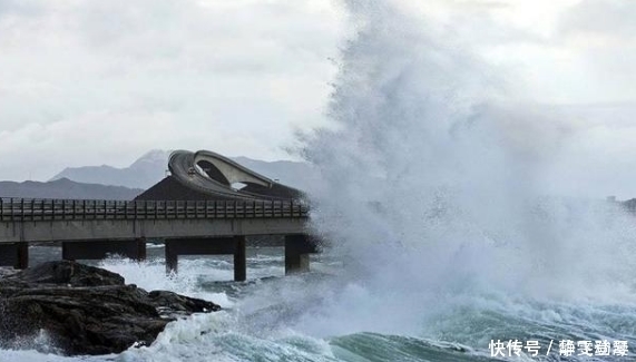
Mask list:
[[[233,254],[234,278],[244,281],[246,236],[284,235],[285,272],[309,268],[316,244],[300,190],[211,151],[173,153],[168,167],[135,200],[0,198],[0,265],[27,267],[36,242],[61,243],[65,260],[144,260],[146,242],[163,241],[168,271],[179,255]]]

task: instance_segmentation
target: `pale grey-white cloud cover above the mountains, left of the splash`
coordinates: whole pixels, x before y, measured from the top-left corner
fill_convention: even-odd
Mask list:
[[[0,179],[151,148],[282,158],[324,121],[329,0],[3,1]]]

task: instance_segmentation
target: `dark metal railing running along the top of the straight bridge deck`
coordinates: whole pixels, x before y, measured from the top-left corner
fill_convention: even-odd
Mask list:
[[[0,198],[0,222],[304,218],[309,208],[295,200],[98,200]]]

